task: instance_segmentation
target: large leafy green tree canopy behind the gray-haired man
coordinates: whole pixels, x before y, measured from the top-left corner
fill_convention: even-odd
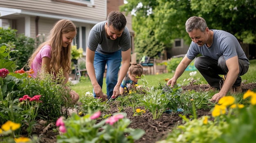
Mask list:
[[[173,39],[191,42],[185,22],[191,16],[203,17],[209,29],[228,31],[240,41],[248,35],[256,39],[256,0],[126,0],[120,11],[132,13],[135,48],[155,56]],[[152,43],[154,46],[152,47]],[[158,49],[154,48],[157,47]],[[160,48],[161,47],[161,48]],[[155,53],[153,53],[155,52]]]

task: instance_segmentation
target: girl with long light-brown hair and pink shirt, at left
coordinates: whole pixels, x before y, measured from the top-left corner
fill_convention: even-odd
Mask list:
[[[66,84],[71,71],[71,43],[76,36],[76,26],[70,20],[59,20],[50,31],[48,39],[40,44],[34,53],[29,57],[29,67],[34,70],[33,78],[43,73],[57,75],[63,70]],[[67,87],[66,87],[67,88]],[[72,103],[79,100],[79,95],[70,90]]]

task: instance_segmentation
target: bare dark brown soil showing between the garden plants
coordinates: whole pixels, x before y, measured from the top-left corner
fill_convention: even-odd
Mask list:
[[[207,91],[209,90],[209,85],[194,85],[192,86],[182,86],[183,90],[195,90],[195,91]],[[256,88],[256,83],[242,84],[243,92],[248,89],[254,90]],[[136,107],[139,108],[139,107]],[[113,114],[119,112],[117,107],[113,104],[110,104],[110,110],[104,112],[103,114]],[[141,137],[141,139],[135,141],[135,143],[155,143],[156,141],[163,140],[166,138],[168,133],[172,131],[172,128],[177,124],[182,123],[181,117],[177,113],[163,113],[159,119],[153,120],[153,116],[149,111],[146,111],[145,114],[141,116],[133,116],[132,108],[124,108],[124,111],[127,113],[127,118],[129,118],[132,123],[130,124],[130,128],[140,128],[145,131],[145,134]],[[211,116],[210,110],[198,110],[197,111],[198,118],[209,115]],[[56,136],[58,132],[53,132],[52,129],[56,128],[55,124],[50,125],[50,127],[45,130],[45,127],[42,125],[38,125],[36,127],[36,132],[34,134],[38,134],[42,143],[56,143]]]

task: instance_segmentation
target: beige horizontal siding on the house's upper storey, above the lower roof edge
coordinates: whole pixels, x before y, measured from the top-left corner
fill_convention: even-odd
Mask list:
[[[106,20],[106,0],[94,0],[94,7],[85,7],[52,0],[0,0],[0,3],[0,7],[52,15],[64,15],[86,20]]]

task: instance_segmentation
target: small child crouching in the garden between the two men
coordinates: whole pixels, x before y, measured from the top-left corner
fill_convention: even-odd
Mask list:
[[[124,77],[119,88],[120,94],[124,94],[124,88],[126,88],[127,90],[134,89],[142,73],[143,66],[141,66],[141,64],[132,63],[132,65],[130,65],[128,69],[128,73]]]

